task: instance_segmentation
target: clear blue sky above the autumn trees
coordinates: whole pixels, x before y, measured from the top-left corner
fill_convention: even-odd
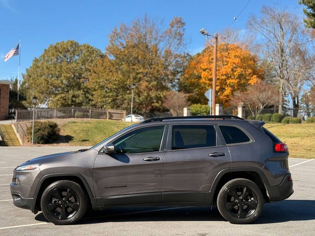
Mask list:
[[[220,32],[243,9],[248,0],[0,0],[0,80],[17,76],[18,56],[4,56],[22,40],[21,73],[50,44],[68,39],[89,43],[105,51],[108,34],[120,23],[129,24],[147,14],[163,19],[165,27],[174,16],[186,22],[187,50],[203,49],[202,27]],[[287,8],[303,17],[297,0],[251,0],[231,28],[245,29],[251,14],[262,5]]]

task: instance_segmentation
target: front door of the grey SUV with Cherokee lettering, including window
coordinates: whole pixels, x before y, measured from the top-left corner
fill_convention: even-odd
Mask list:
[[[95,195],[100,206],[161,202],[165,125],[150,125],[115,139],[115,153],[95,159]],[[165,135],[164,135],[165,133]]]

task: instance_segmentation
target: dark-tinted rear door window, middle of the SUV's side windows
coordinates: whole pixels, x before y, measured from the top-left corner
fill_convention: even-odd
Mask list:
[[[213,125],[173,125],[172,150],[216,146]]]

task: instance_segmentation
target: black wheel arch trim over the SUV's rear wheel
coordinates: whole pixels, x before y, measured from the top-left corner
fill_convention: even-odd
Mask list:
[[[206,196],[206,202],[216,203],[217,197],[222,186],[234,178],[247,178],[253,181],[260,188],[264,200],[270,202],[269,193],[271,192],[268,181],[264,174],[257,168],[232,168],[222,170],[215,178],[210,192]]]

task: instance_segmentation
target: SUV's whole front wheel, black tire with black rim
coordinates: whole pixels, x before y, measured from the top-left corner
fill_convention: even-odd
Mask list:
[[[84,216],[88,197],[80,184],[59,180],[44,190],[40,206],[48,221],[55,225],[70,225]]]

